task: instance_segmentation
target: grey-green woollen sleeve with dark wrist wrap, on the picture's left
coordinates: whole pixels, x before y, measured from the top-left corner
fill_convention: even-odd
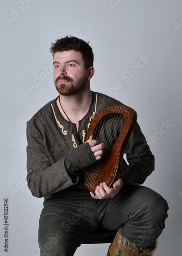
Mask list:
[[[79,169],[96,160],[89,144],[84,143],[67,155],[63,151],[57,157],[58,161],[53,162],[52,158],[50,161],[49,152],[45,150],[47,142],[41,132],[34,123],[27,123],[27,181],[33,196],[46,198],[75,185],[79,180]],[[55,154],[58,155],[56,151]]]

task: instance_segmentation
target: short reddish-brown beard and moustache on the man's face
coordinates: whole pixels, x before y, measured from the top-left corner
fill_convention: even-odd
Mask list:
[[[69,83],[59,83],[59,80],[65,80]],[[86,86],[87,77],[82,77],[74,82],[69,76],[57,77],[55,80],[55,86],[60,95],[69,96],[74,95],[82,91]]]

